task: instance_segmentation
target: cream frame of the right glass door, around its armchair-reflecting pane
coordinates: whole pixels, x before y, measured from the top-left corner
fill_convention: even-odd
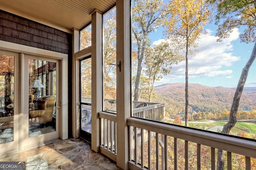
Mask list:
[[[22,53],[21,55],[21,75],[22,77],[22,83],[21,83],[21,98],[22,103],[20,103],[21,106],[21,128],[20,136],[21,136],[21,150],[28,150],[30,148],[34,148],[34,145],[45,145],[45,143],[52,143],[52,141],[57,141],[60,139],[60,113],[62,108],[56,107],[56,131],[51,133],[45,133],[42,135],[29,137],[28,131],[29,131],[29,121],[28,121],[28,94],[29,94],[29,59],[35,59],[35,60],[42,60],[42,61],[49,61],[56,63],[56,104],[58,104],[58,101],[60,101],[60,60],[59,59],[53,59],[53,58],[46,58],[42,56],[34,56],[34,55],[25,55]]]

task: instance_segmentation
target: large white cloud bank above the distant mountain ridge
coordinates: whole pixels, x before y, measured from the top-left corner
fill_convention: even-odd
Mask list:
[[[232,41],[239,37],[238,29],[234,29],[230,37],[217,42],[218,37],[212,35],[212,31],[208,30],[208,34],[201,35],[198,42],[197,52],[188,59],[188,76],[196,77],[216,77],[226,76],[232,78],[232,64],[240,60],[240,57],[234,56]],[[158,44],[162,39],[155,41]],[[229,68],[226,68],[229,67]],[[161,83],[167,83],[167,80],[185,78],[185,61],[172,66],[172,74],[165,76],[160,80]],[[165,80],[167,79],[167,80]]]

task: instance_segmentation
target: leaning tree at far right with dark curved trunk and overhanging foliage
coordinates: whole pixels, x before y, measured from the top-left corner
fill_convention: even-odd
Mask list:
[[[234,94],[233,103],[230,109],[230,117],[228,123],[224,125],[222,133],[229,134],[231,129],[236,125],[237,111],[239,101],[244,89],[250,66],[256,58],[256,1],[255,0],[212,0],[217,4],[218,13],[216,15],[216,24],[218,25],[217,35],[220,37],[219,41],[226,38],[232,33],[232,29],[246,26],[244,33],[240,34],[242,42],[254,42],[252,54],[242,69],[240,79],[238,81],[236,92]],[[218,170],[224,169],[224,152],[218,150]]]

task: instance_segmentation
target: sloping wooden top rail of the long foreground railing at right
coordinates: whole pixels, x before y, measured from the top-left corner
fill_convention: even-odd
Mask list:
[[[167,125],[134,117],[128,118],[127,124],[129,126],[138,127],[162,135],[256,158],[255,141],[190,129],[187,127]]]

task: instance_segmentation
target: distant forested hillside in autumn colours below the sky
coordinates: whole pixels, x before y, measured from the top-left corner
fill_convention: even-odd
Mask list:
[[[209,87],[190,83],[188,88],[189,111],[222,112],[230,110],[235,88]],[[166,103],[165,109],[170,115],[184,111],[185,83],[170,83],[156,86],[155,102]],[[256,109],[256,87],[244,88],[239,105],[240,110]]]

